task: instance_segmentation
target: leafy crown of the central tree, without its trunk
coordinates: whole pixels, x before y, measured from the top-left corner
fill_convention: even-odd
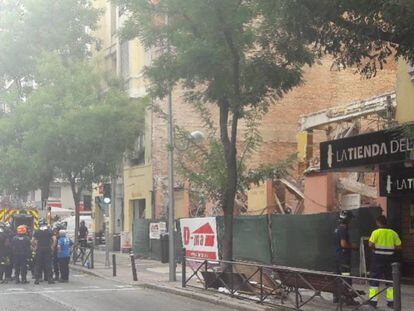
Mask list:
[[[304,42],[281,45],[281,38],[264,33],[259,1],[117,2],[131,11],[124,37],[138,36],[146,47],[165,51],[146,70],[158,97],[182,83],[204,102],[226,99],[242,114],[244,107],[264,109],[267,96],[298,85],[302,65],[313,63]]]

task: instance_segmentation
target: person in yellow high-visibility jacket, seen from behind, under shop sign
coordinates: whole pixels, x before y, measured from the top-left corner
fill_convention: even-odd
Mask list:
[[[369,238],[369,247],[373,250],[371,277],[373,279],[392,280],[391,264],[396,261],[396,255],[401,250],[401,240],[398,234],[387,228],[387,218],[381,215],[377,218],[378,229]],[[378,304],[379,282],[371,282],[369,289],[370,304],[376,308]],[[394,290],[387,287],[387,306],[394,307]]]

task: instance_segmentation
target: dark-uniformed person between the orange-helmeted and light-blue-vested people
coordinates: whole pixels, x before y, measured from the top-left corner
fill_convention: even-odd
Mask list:
[[[52,280],[52,251],[55,247],[55,239],[44,219],[39,221],[39,226],[40,229],[33,235],[33,245],[36,250],[35,284],[39,284],[43,271],[48,283],[54,284],[55,282]]]

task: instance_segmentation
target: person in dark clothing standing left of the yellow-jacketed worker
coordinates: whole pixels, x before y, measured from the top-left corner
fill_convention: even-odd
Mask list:
[[[353,219],[353,214],[350,211],[341,211],[339,214],[338,225],[335,228],[335,264],[336,274],[342,276],[351,276],[351,252],[358,250],[358,247],[350,242],[349,239],[349,224]],[[345,281],[352,285],[352,279],[345,278]],[[335,293],[333,302],[339,302],[339,294]],[[358,302],[345,298],[345,304],[358,305]]]

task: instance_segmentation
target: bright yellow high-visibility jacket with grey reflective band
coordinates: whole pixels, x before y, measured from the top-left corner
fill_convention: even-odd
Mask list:
[[[369,242],[375,245],[374,254],[376,255],[394,255],[395,248],[401,246],[397,232],[387,228],[374,230]]]

